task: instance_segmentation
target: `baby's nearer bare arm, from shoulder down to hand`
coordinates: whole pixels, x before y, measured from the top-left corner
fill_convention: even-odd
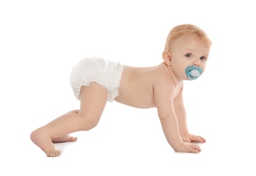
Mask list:
[[[163,132],[168,143],[176,152],[198,153],[200,152],[199,146],[184,142],[180,136],[179,122],[173,104],[174,87],[172,87],[169,85],[154,87],[154,100]]]

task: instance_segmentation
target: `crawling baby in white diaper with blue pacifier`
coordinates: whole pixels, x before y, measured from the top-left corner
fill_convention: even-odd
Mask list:
[[[163,62],[137,68],[102,58],[86,58],[74,66],[70,84],[80,109],[72,110],[36,129],[30,139],[47,156],[58,156],[54,143],[77,141],[69,135],[95,127],[106,102],[135,108],[157,108],[163,132],[175,152],[200,152],[191,141],[206,140],[188,132],[182,97],[183,81],[202,75],[209,58],[211,40],[198,26],[175,26],[167,37]]]

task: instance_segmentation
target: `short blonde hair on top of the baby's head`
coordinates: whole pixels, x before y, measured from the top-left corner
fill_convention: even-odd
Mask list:
[[[182,35],[196,35],[197,37],[199,37],[200,40],[205,41],[205,43],[207,43],[209,47],[211,47],[212,45],[211,40],[209,39],[207,33],[204,30],[192,24],[181,24],[172,28],[169,32],[165,43],[165,51],[170,51],[173,41],[175,41],[175,39],[181,37]]]

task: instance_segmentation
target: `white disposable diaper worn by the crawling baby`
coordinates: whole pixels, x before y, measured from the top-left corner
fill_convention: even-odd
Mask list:
[[[123,72],[123,64],[102,58],[85,58],[72,68],[70,84],[74,96],[80,100],[82,86],[96,82],[108,89],[108,102],[113,102],[119,95],[119,84]]]

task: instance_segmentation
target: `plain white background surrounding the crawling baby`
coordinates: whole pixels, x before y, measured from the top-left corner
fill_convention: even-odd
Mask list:
[[[253,1],[0,1],[0,175],[256,175]],[[30,132],[79,108],[69,74],[91,56],[160,64],[169,30],[195,24],[211,40],[207,70],[186,81],[200,154],[173,152],[155,109],[108,103],[98,127],[48,158]]]

